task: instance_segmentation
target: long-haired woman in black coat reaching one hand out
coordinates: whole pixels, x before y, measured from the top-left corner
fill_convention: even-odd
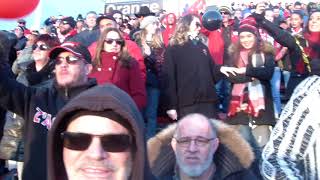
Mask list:
[[[182,17],[165,52],[163,88],[167,114],[178,119],[189,113],[216,118],[218,101],[215,82],[235,68],[215,65],[200,38],[201,22],[196,15]]]

